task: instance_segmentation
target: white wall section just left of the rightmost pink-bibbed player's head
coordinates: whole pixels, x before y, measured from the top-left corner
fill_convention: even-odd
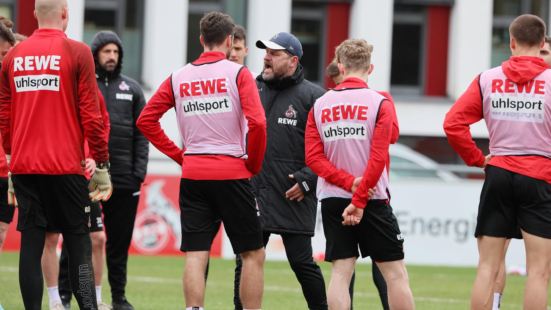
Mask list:
[[[476,8],[476,9],[473,9]],[[493,1],[456,0],[450,16],[447,94],[455,100],[490,68]]]

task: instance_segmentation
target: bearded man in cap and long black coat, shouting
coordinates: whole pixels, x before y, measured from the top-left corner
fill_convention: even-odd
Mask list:
[[[264,246],[271,234],[281,235],[308,308],[326,310],[325,282],[312,259],[317,175],[306,167],[304,156],[308,113],[325,90],[304,78],[299,63],[302,45],[294,35],[278,33],[267,41],[257,41],[256,47],[266,49],[264,68],[256,80],[268,137],[262,169],[251,182]],[[240,309],[237,304],[236,309]]]

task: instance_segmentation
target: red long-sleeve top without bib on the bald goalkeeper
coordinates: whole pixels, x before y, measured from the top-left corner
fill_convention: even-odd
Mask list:
[[[13,47],[0,70],[0,133],[13,174],[84,175],[84,140],[107,161],[90,48],[56,29]]]

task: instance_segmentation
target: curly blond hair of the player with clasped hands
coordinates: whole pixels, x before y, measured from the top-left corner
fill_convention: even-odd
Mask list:
[[[335,60],[348,71],[369,71],[373,45],[365,39],[347,39],[335,49]]]

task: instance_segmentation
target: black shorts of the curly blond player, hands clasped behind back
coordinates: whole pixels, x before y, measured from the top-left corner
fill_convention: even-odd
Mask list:
[[[404,258],[404,239],[392,207],[386,201],[370,200],[359,224],[342,225],[342,214],[352,199],[327,198],[321,201],[325,233],[325,261],[371,256],[375,261]]]

